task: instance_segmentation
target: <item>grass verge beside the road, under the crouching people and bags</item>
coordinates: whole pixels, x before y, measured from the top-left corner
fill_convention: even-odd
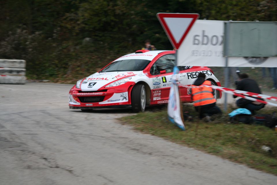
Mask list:
[[[205,123],[197,118],[193,106],[185,105],[184,110],[194,118],[192,122],[185,121],[186,131],[182,131],[168,120],[166,109],[150,109],[120,120],[145,134],[159,136],[277,175],[277,132],[274,129],[261,123],[231,123],[227,114]],[[272,111],[274,110],[265,109],[259,111],[259,114]],[[263,151],[263,145],[270,147],[272,152]]]

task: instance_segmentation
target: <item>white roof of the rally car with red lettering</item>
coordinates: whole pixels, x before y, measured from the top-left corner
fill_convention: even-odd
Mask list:
[[[127,55],[124,55],[122,57],[119,57],[115,61],[118,60],[130,60],[130,59],[143,59],[143,60],[153,60],[158,54],[165,52],[165,51],[170,51],[170,50],[154,50],[154,51],[147,51],[143,53],[129,53]],[[114,62],[115,62],[114,61]]]

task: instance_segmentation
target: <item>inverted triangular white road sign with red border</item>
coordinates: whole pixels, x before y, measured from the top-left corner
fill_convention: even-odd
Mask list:
[[[171,44],[178,49],[199,14],[158,13],[157,17]]]

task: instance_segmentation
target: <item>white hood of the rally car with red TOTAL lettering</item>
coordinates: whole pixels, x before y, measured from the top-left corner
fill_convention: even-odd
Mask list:
[[[81,90],[96,91],[99,88],[111,82],[115,82],[119,79],[126,78],[129,76],[135,76],[141,73],[142,71],[116,71],[116,72],[94,73],[83,80],[83,82],[81,83]]]

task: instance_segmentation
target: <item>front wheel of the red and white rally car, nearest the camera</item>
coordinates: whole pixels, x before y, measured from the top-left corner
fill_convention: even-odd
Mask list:
[[[144,112],[146,106],[146,90],[143,84],[136,84],[131,93],[133,112]]]

